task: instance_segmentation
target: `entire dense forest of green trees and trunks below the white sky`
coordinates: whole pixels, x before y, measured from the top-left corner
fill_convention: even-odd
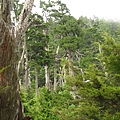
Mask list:
[[[120,120],[120,22],[13,1],[11,21],[0,19],[0,120]]]

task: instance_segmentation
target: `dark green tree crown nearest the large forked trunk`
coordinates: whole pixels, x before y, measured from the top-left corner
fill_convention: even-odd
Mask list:
[[[33,69],[34,67],[36,67],[36,69],[40,71],[40,69],[43,68],[43,66],[48,66],[50,62],[49,51],[47,51],[46,49],[48,47],[49,37],[47,34],[43,34],[43,30],[46,29],[46,25],[42,20],[42,16],[37,14],[35,23],[36,25],[35,26],[33,25],[32,27],[30,27],[30,29],[26,32],[27,45],[29,48],[28,49],[29,60],[30,60],[29,65],[30,65],[30,68]],[[47,74],[46,76],[49,79],[48,77],[49,74]],[[41,79],[43,81],[44,77],[42,76]],[[49,81],[49,80],[46,80],[46,81]],[[41,86],[43,86],[43,84]]]

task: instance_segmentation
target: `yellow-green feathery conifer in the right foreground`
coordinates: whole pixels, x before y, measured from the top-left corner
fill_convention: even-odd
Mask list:
[[[98,62],[85,69],[85,80],[81,79],[80,74],[67,80],[70,86],[76,86],[80,96],[76,108],[81,113],[79,119],[120,119],[120,45],[109,35],[105,35],[103,39],[104,42],[98,47],[101,50],[96,54]]]

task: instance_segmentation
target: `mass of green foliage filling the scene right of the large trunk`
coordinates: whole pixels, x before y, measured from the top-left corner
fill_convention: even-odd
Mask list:
[[[57,83],[59,76],[65,76],[66,83],[58,86],[56,92],[39,88],[38,97],[34,84],[27,91],[21,90],[25,114],[33,120],[119,120],[119,23],[87,17],[77,20],[59,0],[41,1],[40,5],[47,20],[35,15],[36,26],[26,32],[30,70],[34,74],[34,67],[39,68],[39,79],[43,82],[43,67],[49,65],[53,82],[56,62]],[[63,66],[66,73],[62,74]],[[69,75],[70,68],[73,76]]]

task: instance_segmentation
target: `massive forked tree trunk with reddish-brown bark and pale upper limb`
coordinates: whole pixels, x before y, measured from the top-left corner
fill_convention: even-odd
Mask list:
[[[17,78],[17,47],[28,28],[28,19],[34,0],[26,0],[19,16],[18,26],[11,22],[10,0],[0,1],[0,119],[22,120],[22,105]],[[16,36],[15,36],[16,35]]]

